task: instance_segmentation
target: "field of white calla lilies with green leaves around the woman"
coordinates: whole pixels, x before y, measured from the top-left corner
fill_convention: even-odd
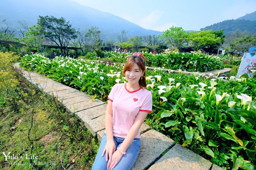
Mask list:
[[[30,54],[21,57],[20,66],[107,102],[114,84],[126,82],[122,69],[130,55],[106,52],[100,60],[88,53],[84,59],[50,60]],[[204,54],[143,55],[150,67],[195,71],[146,70],[153,111],[145,123],[220,167],[254,169],[256,78],[204,77],[200,72],[223,68],[221,59]]]

